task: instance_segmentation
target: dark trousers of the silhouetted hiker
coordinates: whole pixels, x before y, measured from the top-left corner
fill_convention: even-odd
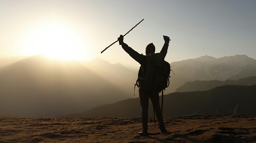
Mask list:
[[[153,109],[157,116],[159,127],[164,126],[163,115],[160,109],[159,93],[154,91],[148,91],[144,86],[139,88],[140,106],[141,106],[141,119],[143,130],[147,130],[148,121],[148,100],[150,99],[153,105]]]

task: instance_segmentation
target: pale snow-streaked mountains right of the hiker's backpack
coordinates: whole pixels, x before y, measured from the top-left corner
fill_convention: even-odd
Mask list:
[[[209,80],[239,80],[256,76],[256,60],[246,55],[222,58],[202,56],[200,58],[172,62],[170,87],[166,93],[174,92],[186,82]]]

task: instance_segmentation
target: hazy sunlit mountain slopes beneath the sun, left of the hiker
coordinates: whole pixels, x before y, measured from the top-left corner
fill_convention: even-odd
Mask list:
[[[54,117],[133,98],[128,93],[133,85],[127,88],[122,78],[134,77],[133,72],[101,62],[93,64],[101,68],[89,68],[88,63],[33,56],[0,68],[0,114]]]

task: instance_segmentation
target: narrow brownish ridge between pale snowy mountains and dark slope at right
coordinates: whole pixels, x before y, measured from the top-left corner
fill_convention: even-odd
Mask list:
[[[186,82],[184,85],[176,89],[176,92],[189,91],[205,91],[223,85],[254,85],[256,84],[256,77],[248,77],[240,80],[211,80],[211,81],[193,81]]]

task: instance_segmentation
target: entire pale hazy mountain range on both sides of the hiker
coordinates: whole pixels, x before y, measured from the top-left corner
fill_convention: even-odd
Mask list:
[[[245,55],[203,56],[171,63],[170,87],[186,82],[256,76],[256,60]],[[100,58],[63,62],[36,55],[0,59],[0,115],[55,117],[134,98],[138,71]],[[135,90],[138,97],[138,90]]]

